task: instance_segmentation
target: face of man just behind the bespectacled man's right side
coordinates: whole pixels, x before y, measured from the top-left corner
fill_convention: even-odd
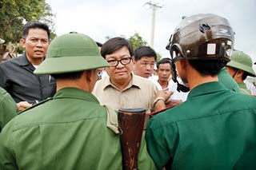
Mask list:
[[[142,57],[134,62],[134,74],[144,78],[150,77],[154,71],[154,63],[154,57]]]

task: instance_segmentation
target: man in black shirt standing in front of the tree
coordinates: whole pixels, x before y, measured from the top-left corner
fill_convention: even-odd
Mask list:
[[[25,53],[0,64],[0,86],[10,93],[16,103],[22,101],[24,105],[30,106],[54,96],[54,78],[34,74],[34,69],[46,57],[49,42],[50,30],[46,24],[27,22],[23,26],[20,40]]]

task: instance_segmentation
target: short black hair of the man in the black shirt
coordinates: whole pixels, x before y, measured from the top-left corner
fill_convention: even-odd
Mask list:
[[[23,26],[22,29],[22,39],[26,39],[26,36],[29,34],[30,29],[39,28],[42,30],[46,30],[48,35],[48,40],[50,41],[50,29],[49,26],[47,26],[45,23],[42,22],[26,22],[26,24]]]

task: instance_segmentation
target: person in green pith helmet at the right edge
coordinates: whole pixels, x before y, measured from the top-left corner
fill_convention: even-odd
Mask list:
[[[250,56],[242,51],[235,50],[232,54],[231,61],[226,64],[226,70],[230,73],[230,76],[234,78],[234,81],[238,83],[238,86],[242,93],[251,95],[250,89],[247,89],[245,80],[247,76],[256,77],[256,73],[253,69],[253,61]]]

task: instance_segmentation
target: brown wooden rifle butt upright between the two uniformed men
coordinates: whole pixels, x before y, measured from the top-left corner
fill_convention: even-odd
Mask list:
[[[138,152],[142,140],[146,109],[119,109],[118,125],[122,128],[122,169],[138,169]]]

